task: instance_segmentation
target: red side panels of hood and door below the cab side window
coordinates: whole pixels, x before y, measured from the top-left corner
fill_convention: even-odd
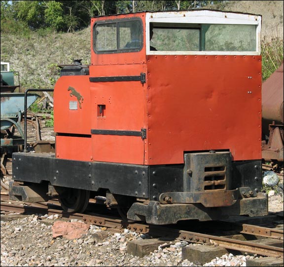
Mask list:
[[[95,66],[96,76],[138,76],[144,65]],[[81,108],[69,87],[83,100]],[[137,136],[92,135],[91,130],[130,130],[146,128],[146,86],[140,81],[89,82],[89,76],[62,76],[54,91],[54,131],[57,136],[56,156],[72,160],[94,160],[143,164],[144,141]],[[77,110],[70,110],[70,101]],[[100,114],[99,105],[104,105]],[[80,147],[80,149],[78,149]],[[82,149],[84,148],[84,149]]]

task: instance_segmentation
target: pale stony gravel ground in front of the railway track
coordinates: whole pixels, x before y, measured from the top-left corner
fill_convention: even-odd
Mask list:
[[[269,197],[269,210],[283,211],[283,194]],[[11,216],[10,216],[11,217]],[[91,225],[80,238],[53,238],[57,216],[15,215],[11,220],[1,215],[0,266],[200,266],[182,260],[181,248],[194,246],[172,241],[143,258],[127,253],[127,242],[149,236],[125,229],[122,232]],[[71,220],[70,222],[74,222]],[[98,232],[106,237],[98,240]],[[102,233],[101,233],[102,234]],[[203,266],[246,266],[254,255],[226,254]]]

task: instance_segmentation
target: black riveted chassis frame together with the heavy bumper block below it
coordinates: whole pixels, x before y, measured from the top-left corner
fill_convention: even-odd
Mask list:
[[[238,188],[240,191],[236,205],[205,208],[200,203],[160,204],[160,194],[183,192],[185,186],[183,182],[184,166],[184,164],[151,166],[87,162],[55,158],[54,153],[13,153],[12,164],[14,181],[24,182],[25,186],[31,186],[31,188],[47,181],[58,187],[89,191],[106,189],[112,194],[148,200],[148,205],[134,203],[128,212],[128,217],[134,220],[146,218],[146,221],[152,224],[176,223],[178,220],[190,218],[210,220],[228,215],[267,214],[267,197],[259,197],[258,195],[262,186],[261,160],[232,162],[230,187],[231,189]],[[40,190],[42,192],[42,186]],[[44,194],[47,191],[48,187],[46,186]],[[253,191],[250,194],[254,197],[248,196],[248,191]],[[10,187],[9,194],[13,195],[13,192],[17,192],[17,185]],[[255,204],[257,205],[255,206]],[[194,210],[194,215],[190,209]],[[167,218],[165,216],[156,218],[152,214],[154,210],[160,212],[161,215],[167,214]],[[185,213],[188,215],[185,216]]]

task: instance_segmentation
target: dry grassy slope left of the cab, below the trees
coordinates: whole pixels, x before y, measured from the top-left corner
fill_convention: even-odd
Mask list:
[[[90,28],[76,33],[29,38],[1,35],[1,61],[10,62],[12,70],[20,72],[20,81],[27,88],[53,88],[58,78],[57,64],[70,64],[72,59],[90,63]]]

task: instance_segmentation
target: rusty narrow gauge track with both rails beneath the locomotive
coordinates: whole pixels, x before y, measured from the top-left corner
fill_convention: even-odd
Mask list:
[[[26,203],[23,203],[21,201],[9,201],[7,193],[5,194],[1,193],[1,211],[17,212],[25,214],[48,214],[48,215],[58,214],[60,218],[78,219],[90,224],[103,226],[106,228],[112,228],[112,229],[127,228],[129,230],[140,233],[148,233],[152,236],[159,236],[169,239],[171,238],[179,239],[192,243],[214,244],[214,245],[219,245],[220,247],[224,247],[226,249],[249,252],[262,256],[284,258],[283,228],[275,229],[275,228],[266,228],[256,225],[248,225],[248,224],[241,225],[242,230],[239,231],[240,233],[251,234],[256,236],[256,238],[257,236],[258,238],[259,236],[262,236],[262,239],[256,239],[258,241],[272,240],[272,239],[276,241],[278,240],[278,242],[276,242],[277,246],[275,246],[275,245],[268,245],[268,243],[265,242],[257,242],[255,240],[243,241],[243,240],[229,238],[226,236],[217,236],[201,232],[181,230],[177,229],[177,226],[175,226],[175,228],[172,228],[172,227],[153,226],[153,225],[125,222],[118,217],[109,216],[109,215],[105,216],[94,213],[69,214],[62,211],[62,209],[59,206],[59,203],[56,200],[49,202],[41,202],[41,203],[29,203],[29,205],[27,205]],[[237,228],[240,227],[240,225],[238,224],[236,224],[235,226]],[[263,237],[267,238],[263,239]]]

